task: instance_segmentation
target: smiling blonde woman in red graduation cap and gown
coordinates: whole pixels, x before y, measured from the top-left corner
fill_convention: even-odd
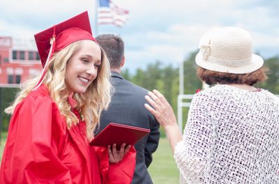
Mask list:
[[[110,103],[111,85],[110,65],[87,12],[35,39],[44,69],[6,108],[13,116],[0,183],[130,183],[133,147],[89,147],[100,112]]]

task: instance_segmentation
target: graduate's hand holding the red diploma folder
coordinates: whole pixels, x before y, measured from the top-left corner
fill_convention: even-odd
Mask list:
[[[121,148],[119,151],[116,150],[116,144],[113,144],[112,147],[109,145],[107,146],[107,150],[109,152],[109,162],[110,163],[118,163],[121,160],[123,160],[123,157],[126,155],[126,153],[128,153],[131,145],[128,145],[128,147],[126,147],[126,143],[123,143],[121,145]]]

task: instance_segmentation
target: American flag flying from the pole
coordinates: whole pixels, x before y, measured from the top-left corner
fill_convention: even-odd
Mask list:
[[[129,11],[117,6],[112,0],[100,0],[98,24],[123,26],[128,20]]]

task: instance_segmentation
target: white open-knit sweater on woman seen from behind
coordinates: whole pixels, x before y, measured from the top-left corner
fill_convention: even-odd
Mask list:
[[[174,159],[191,183],[279,183],[279,98],[216,85],[195,94]]]

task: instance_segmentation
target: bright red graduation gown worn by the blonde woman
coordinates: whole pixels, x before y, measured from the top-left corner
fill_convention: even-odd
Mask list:
[[[0,183],[131,183],[135,149],[110,165],[107,149],[89,146],[85,128],[82,121],[66,127],[45,85],[31,92],[10,119]]]

